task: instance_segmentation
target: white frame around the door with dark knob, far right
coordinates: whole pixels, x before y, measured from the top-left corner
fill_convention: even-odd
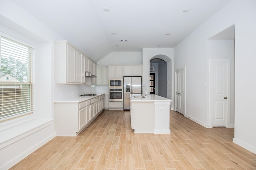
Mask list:
[[[228,113],[227,113],[227,117],[226,117],[226,126],[225,127],[229,127],[230,125],[230,59],[209,59],[209,86],[208,86],[208,124],[207,127],[212,128],[212,121],[213,121],[213,98],[212,98],[212,94],[213,94],[213,82],[212,82],[212,76],[213,76],[213,68],[212,68],[212,63],[213,62],[227,62],[227,74],[229,74],[228,76],[228,80],[227,80],[227,86],[229,87],[229,89],[227,90],[227,97],[228,97]]]

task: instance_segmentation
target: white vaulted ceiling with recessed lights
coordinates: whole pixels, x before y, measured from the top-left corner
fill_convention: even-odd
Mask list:
[[[229,1],[14,0],[95,61],[113,51],[173,48]]]

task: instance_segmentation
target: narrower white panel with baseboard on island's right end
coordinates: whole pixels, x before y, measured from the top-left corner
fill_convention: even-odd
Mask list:
[[[156,134],[170,134],[170,102],[154,102]]]

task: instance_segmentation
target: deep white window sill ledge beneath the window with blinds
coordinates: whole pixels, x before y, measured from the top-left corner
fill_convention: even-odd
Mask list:
[[[0,149],[54,123],[53,119],[32,119],[13,126],[12,123],[0,125]],[[16,122],[17,123],[17,122]]]

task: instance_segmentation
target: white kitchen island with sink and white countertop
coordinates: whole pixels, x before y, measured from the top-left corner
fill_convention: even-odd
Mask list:
[[[172,100],[154,94],[130,96],[130,116],[134,133],[170,134]]]

